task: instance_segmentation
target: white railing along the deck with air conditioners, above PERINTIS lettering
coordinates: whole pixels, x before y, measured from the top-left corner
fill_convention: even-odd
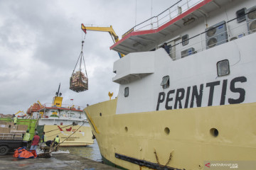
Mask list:
[[[178,60],[183,57],[188,57],[188,55],[193,55],[197,52],[201,52],[203,50],[207,50],[207,49],[213,48],[215,46],[222,45],[225,42],[230,42],[237,38],[241,38],[246,35],[250,35],[251,33],[255,33],[256,29],[248,30],[248,28],[247,28],[247,25],[250,22],[255,21],[255,20],[256,19],[248,21],[248,22],[245,21],[244,23],[237,25],[237,24],[232,24],[232,22],[237,22],[236,18],[234,18],[230,21],[227,21],[226,23],[223,23],[223,24],[225,24],[227,30],[225,30],[219,34],[215,34],[215,35],[213,35],[213,37],[210,37],[210,38],[218,37],[218,35],[221,35],[223,33],[227,35],[227,38],[225,38],[221,41],[217,41],[217,42],[213,43],[212,45],[207,45],[208,40],[210,40],[210,38],[206,38],[206,33],[208,32],[208,30],[203,31],[202,33],[199,33],[198,35],[194,35],[193,37],[188,38],[187,40],[183,40],[183,41],[180,40],[175,45],[171,45],[170,57],[173,60]],[[223,25],[223,24],[221,24],[221,25]],[[219,25],[219,26],[221,26],[221,25]],[[215,28],[217,28],[219,26],[216,26]],[[189,45],[183,46],[182,44],[185,41],[190,41]],[[193,41],[193,42],[191,43],[191,41]],[[193,48],[193,50],[192,50],[192,48]],[[190,49],[190,51],[188,49]],[[188,51],[184,52],[186,50],[188,50]]]

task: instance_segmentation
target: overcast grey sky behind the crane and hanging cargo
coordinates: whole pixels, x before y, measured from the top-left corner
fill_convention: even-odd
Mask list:
[[[37,101],[52,103],[55,92],[64,104],[85,107],[118,93],[112,82],[117,52],[109,33],[82,32],[81,23],[110,26],[122,34],[176,0],[0,0],[0,113],[26,112]],[[85,38],[85,39],[84,39]],[[81,52],[89,90],[69,89],[70,76]],[[85,72],[85,69],[82,70]],[[73,101],[70,101],[73,99]]]

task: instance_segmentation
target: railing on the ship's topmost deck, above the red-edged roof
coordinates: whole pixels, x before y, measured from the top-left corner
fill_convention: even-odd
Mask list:
[[[176,2],[176,4],[170,6],[165,11],[159,13],[157,16],[153,16],[146,21],[137,24],[130,30],[151,30],[151,29],[157,29],[160,26],[163,26],[165,23],[171,21],[173,18],[176,18],[177,16],[181,15],[181,13],[184,13],[188,11],[188,9],[192,8],[193,6],[196,6],[201,1],[204,0],[180,0]],[[128,31],[129,32],[129,31]],[[127,35],[127,33],[124,33],[124,35]],[[123,35],[123,36],[124,36]],[[123,37],[122,36],[122,37]]]

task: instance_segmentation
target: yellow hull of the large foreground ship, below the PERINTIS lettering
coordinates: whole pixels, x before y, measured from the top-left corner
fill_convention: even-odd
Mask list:
[[[114,166],[203,169],[207,161],[256,160],[256,103],[119,115],[116,106],[114,99],[84,110],[103,159]]]

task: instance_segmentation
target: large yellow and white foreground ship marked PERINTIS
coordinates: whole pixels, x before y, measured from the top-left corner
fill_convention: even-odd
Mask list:
[[[103,162],[142,170],[255,161],[255,32],[255,1],[203,0],[178,1],[124,33],[110,47],[125,55],[113,66],[117,98],[84,110]]]

